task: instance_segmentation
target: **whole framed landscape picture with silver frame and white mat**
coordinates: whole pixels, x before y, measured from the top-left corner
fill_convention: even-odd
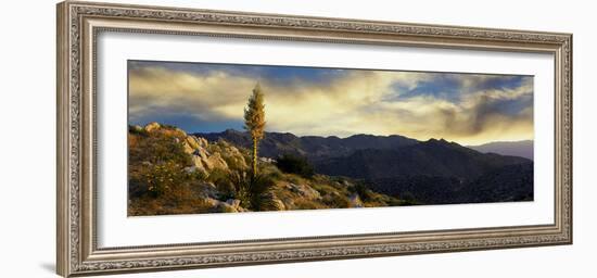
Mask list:
[[[66,1],[58,273],[572,243],[572,35]]]

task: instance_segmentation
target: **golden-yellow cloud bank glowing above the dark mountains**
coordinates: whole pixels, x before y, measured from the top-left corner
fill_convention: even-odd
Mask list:
[[[396,89],[412,90],[432,80],[433,74],[428,73],[346,71],[327,83],[276,83],[218,71],[200,74],[136,67],[129,72],[129,115],[132,122],[161,113],[242,121],[246,99],[259,81],[266,93],[269,131],[403,135],[462,144],[533,139],[532,78],[517,88],[484,89],[479,86],[487,78],[484,75],[457,76],[462,88],[479,89],[453,101],[430,94],[406,98]],[[504,112],[508,103],[524,99],[530,104],[522,111]]]

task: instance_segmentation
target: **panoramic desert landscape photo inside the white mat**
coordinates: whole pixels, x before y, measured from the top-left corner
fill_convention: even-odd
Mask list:
[[[533,76],[128,61],[128,215],[533,201]]]

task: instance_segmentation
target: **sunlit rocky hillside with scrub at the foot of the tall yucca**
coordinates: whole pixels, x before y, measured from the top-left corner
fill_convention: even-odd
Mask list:
[[[302,156],[261,157],[252,180],[247,149],[157,123],[130,126],[130,216],[414,204],[363,181],[314,172]]]

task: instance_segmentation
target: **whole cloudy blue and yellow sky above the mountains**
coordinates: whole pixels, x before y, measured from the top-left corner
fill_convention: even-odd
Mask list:
[[[533,139],[533,77],[129,61],[129,124],[242,129],[256,83],[267,131],[403,135],[461,144]]]

